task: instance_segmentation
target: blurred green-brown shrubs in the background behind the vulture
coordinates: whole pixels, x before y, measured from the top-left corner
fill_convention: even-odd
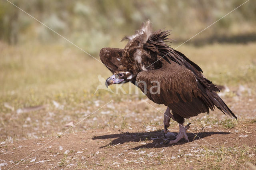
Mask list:
[[[241,0],[12,0],[71,42],[92,55],[116,45],[150,19],[154,29],[172,30],[182,43],[234,8]],[[251,0],[188,43],[249,42],[256,40],[256,1]],[[9,44],[68,43],[9,2],[0,1],[0,40]],[[113,44],[114,43],[114,44]],[[122,43],[120,47],[122,47]]]

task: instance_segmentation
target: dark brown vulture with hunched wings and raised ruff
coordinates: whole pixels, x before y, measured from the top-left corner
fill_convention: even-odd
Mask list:
[[[216,93],[218,87],[204,77],[202,69],[166,44],[170,41],[167,38],[169,34],[170,31],[164,30],[152,32],[151,24],[147,21],[134,36],[123,39],[128,40],[124,49],[101,49],[102,63],[114,74],[107,79],[106,85],[131,81],[150,100],[166,105],[165,115],[168,118],[164,117],[165,132],[170,117],[183,126],[184,118],[199,113],[209,114],[209,109],[213,111],[215,107],[236,118]],[[140,81],[146,82],[146,91],[143,83],[138,83]],[[151,87],[157,85],[151,81],[159,82],[159,93],[150,93]],[[172,114],[169,113],[170,109]]]

